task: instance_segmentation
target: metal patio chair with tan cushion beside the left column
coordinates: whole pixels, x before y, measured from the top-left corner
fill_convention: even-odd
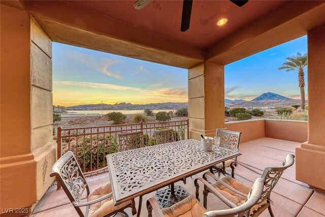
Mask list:
[[[104,169],[107,169],[107,167],[101,170]],[[128,216],[124,212],[124,209],[128,207],[132,208],[132,214],[137,213],[134,200],[114,206],[110,183],[90,192],[84,176],[85,174],[87,173],[82,173],[72,151],[68,151],[54,163],[52,173],[50,174],[51,177],[55,176],[57,181],[60,182],[79,216],[111,216],[118,212]],[[85,190],[87,192],[86,202],[82,202],[81,200]],[[84,206],[86,207],[85,213],[80,208]]]

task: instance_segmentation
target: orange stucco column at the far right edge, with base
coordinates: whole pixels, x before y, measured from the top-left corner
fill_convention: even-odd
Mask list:
[[[308,142],[296,148],[296,178],[325,191],[325,25],[308,31]]]

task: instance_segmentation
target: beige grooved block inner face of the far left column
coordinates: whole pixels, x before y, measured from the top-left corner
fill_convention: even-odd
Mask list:
[[[30,124],[31,153],[36,162],[36,191],[40,200],[54,178],[56,161],[52,115],[52,41],[31,17],[30,21]]]

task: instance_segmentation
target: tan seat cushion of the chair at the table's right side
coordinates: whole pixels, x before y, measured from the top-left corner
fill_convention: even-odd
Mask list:
[[[250,191],[250,188],[247,185],[245,185],[242,182],[232,178],[231,176],[224,176],[224,177],[221,178],[221,180],[224,181],[225,183],[227,183],[228,185],[230,185],[232,188],[236,189],[237,191],[239,191],[239,192],[241,192],[243,194],[247,195],[249,193],[249,191]],[[232,203],[234,203],[236,206],[242,205],[246,200],[246,197],[233,192],[232,190],[224,187],[224,185],[220,184],[219,182],[212,183],[212,186],[218,192],[220,192],[225,198],[227,198]],[[253,210],[256,210],[258,207],[262,206],[265,203],[266,203],[266,200],[264,200],[262,202],[258,202],[258,204],[254,205],[251,208],[251,212]]]

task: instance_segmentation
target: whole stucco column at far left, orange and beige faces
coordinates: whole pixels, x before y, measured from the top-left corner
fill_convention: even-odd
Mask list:
[[[52,42],[27,12],[0,7],[0,210],[12,214],[31,211],[53,181]]]

